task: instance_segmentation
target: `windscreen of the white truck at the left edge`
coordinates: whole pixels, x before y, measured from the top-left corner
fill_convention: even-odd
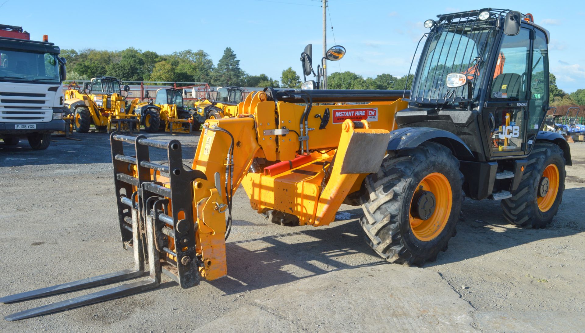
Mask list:
[[[60,83],[57,54],[0,49],[0,81]]]

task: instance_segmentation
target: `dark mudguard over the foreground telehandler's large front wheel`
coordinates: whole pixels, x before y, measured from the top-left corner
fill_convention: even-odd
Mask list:
[[[438,128],[403,127],[390,132],[388,150],[415,148],[423,142],[433,141],[451,149],[457,158],[473,157],[472,151],[459,136]]]

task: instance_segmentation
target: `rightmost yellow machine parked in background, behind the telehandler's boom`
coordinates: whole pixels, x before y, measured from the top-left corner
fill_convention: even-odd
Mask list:
[[[252,92],[252,94],[255,92]],[[217,88],[215,99],[195,101],[195,120],[199,123],[208,119],[223,117],[237,117],[239,104],[243,102],[242,88],[235,86],[222,86]]]

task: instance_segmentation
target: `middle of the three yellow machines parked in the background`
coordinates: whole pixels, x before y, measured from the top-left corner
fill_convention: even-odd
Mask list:
[[[154,101],[137,104],[135,112],[140,114],[146,132],[154,133],[164,128],[164,131],[171,134],[191,133],[201,127],[195,110],[185,110],[182,91],[176,88],[161,88],[156,90]]]

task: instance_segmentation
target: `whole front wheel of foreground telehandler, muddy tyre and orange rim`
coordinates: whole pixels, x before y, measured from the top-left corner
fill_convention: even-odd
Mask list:
[[[459,160],[434,142],[390,153],[366,177],[360,219],[366,241],[397,264],[422,265],[446,251],[459,220],[463,174]]]

